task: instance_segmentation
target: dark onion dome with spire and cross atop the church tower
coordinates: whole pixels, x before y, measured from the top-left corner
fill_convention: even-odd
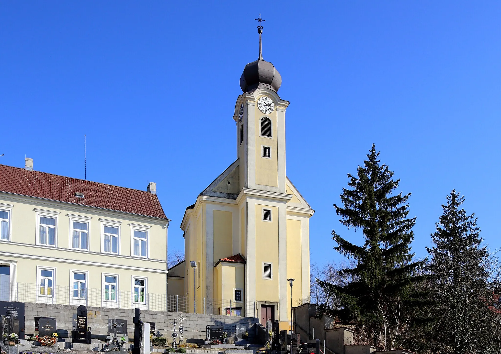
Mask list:
[[[263,26],[261,23],[265,20],[259,14],[258,33],[259,33],[259,58],[257,61],[245,65],[242,76],[240,77],[240,88],[243,92],[253,92],[258,88],[266,87],[277,92],[282,85],[282,77],[272,63],[263,60],[263,44],[261,35]]]

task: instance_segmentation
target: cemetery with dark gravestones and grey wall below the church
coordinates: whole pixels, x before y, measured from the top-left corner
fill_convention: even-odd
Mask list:
[[[381,350],[375,345],[354,345],[353,329],[335,327],[328,315],[316,318],[314,305],[298,306],[294,313],[298,318],[291,334],[279,330],[278,320],[263,325],[255,317],[0,301],[0,346],[2,354],[362,354]]]

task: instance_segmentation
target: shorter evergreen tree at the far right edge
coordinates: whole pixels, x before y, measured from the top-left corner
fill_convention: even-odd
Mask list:
[[[467,215],[463,203],[452,190],[431,234],[435,245],[427,247],[439,319],[431,338],[440,352],[499,352],[497,261],[482,245],[477,219]]]

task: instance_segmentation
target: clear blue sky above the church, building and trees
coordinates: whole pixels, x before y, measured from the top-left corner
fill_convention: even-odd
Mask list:
[[[413,251],[452,188],[499,238],[499,2],[0,2],[0,163],[130,188],[157,183],[169,247],[236,158],[244,66],[283,78],[287,175],[316,210],[312,261],[339,260],[333,203],[372,143],[411,192]]]

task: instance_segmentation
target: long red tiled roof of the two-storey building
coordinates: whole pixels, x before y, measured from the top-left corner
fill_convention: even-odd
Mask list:
[[[0,165],[0,192],[167,219],[156,194],[6,165]]]

